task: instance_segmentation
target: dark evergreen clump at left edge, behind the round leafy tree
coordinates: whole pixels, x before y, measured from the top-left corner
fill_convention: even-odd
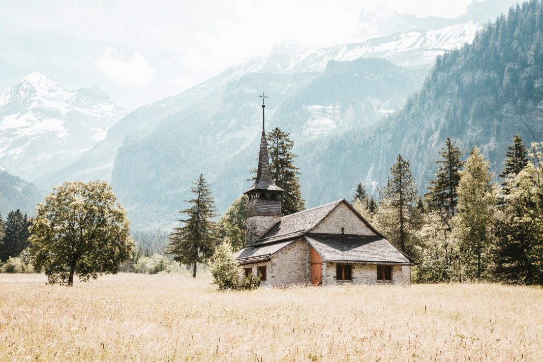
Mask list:
[[[5,236],[0,245],[0,259],[7,261],[9,257],[17,257],[26,247],[29,246],[28,231],[30,221],[26,214],[20,209],[11,211],[4,222]]]

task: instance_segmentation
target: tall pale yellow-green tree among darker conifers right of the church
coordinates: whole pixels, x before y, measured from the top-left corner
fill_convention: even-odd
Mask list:
[[[481,279],[489,263],[489,230],[495,211],[493,174],[477,147],[471,150],[458,183],[458,212],[452,220],[453,233],[462,250],[466,275]]]

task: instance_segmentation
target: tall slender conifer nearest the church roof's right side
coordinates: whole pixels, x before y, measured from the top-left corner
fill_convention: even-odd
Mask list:
[[[383,190],[381,209],[386,207],[389,218],[388,237],[391,242],[400,247],[402,252],[411,250],[409,247],[409,232],[413,214],[413,204],[416,197],[416,183],[411,174],[409,161],[398,155],[396,163],[390,169],[392,177],[388,177],[387,186]],[[391,224],[392,223],[392,224]]]

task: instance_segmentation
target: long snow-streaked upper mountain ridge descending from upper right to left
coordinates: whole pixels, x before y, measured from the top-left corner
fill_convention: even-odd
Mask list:
[[[275,47],[266,56],[250,59],[226,69],[201,84],[176,96],[140,107],[113,126],[108,135],[92,149],[81,154],[73,163],[39,177],[36,182],[45,188],[64,180],[111,180],[113,160],[125,137],[131,132],[152,131],[162,119],[176,112],[193,112],[223,97],[229,82],[254,73],[296,74],[323,72],[330,61],[346,62],[359,58],[385,58],[397,65],[412,68],[413,76],[423,79],[434,58],[445,50],[470,42],[483,22],[507,10],[512,0],[473,1],[466,14],[456,18],[425,17],[397,14],[389,11],[389,18],[376,14],[361,14],[363,22],[379,26],[384,34],[359,43],[337,45],[321,49],[303,49],[292,44]],[[378,11],[382,14],[383,11]],[[378,22],[378,24],[376,23]],[[386,24],[386,26],[383,26]],[[410,88],[411,89],[411,88]],[[331,93],[330,93],[331,94]],[[210,100],[211,99],[211,100]],[[318,110],[317,113],[321,111]]]

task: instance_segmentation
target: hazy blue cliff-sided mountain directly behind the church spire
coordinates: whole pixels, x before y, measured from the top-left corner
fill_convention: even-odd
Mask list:
[[[322,73],[247,74],[230,81],[205,111],[184,110],[152,131],[130,134],[118,150],[112,185],[136,225],[174,221],[202,172],[224,210],[249,187],[260,135],[259,90],[270,95],[268,127],[281,126],[303,147],[307,139],[375,123],[419,86],[409,71],[382,59],[331,62]],[[303,172],[304,160],[298,166]]]

